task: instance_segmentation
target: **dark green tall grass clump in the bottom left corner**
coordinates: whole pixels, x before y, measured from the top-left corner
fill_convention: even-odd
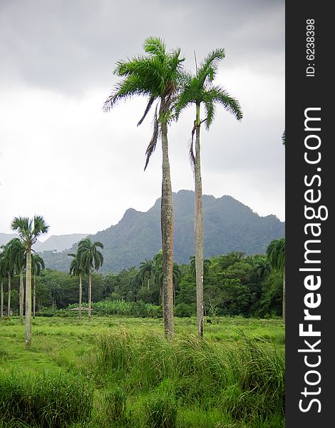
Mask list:
[[[58,372],[33,376],[0,372],[3,427],[61,428],[91,417],[93,389],[85,379]]]

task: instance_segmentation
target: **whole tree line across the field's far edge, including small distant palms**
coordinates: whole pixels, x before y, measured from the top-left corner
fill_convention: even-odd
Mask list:
[[[11,243],[7,248],[11,248]],[[78,245],[78,252],[73,255],[69,272],[48,268],[38,270],[39,275],[35,276],[34,281],[37,315],[53,315],[57,309],[74,305],[78,309],[78,317],[81,318],[83,307],[86,307],[91,318],[92,302],[106,302],[106,305],[107,302],[134,302],[137,303],[135,307],[138,315],[142,316],[146,316],[148,312],[143,304],[163,306],[162,250],[152,260],[143,260],[138,267],[130,267],[118,274],[110,272],[101,275],[97,271],[103,259],[98,254],[100,253],[98,248],[99,244],[85,238]],[[84,254],[85,258],[81,259]],[[203,263],[205,315],[211,320],[224,315],[284,317],[283,256],[284,238],[272,241],[266,255],[246,256],[242,252],[232,252],[205,259]],[[21,314],[19,302],[21,270],[19,266],[16,267],[9,278],[4,270],[5,258],[6,248],[0,256],[0,267],[3,272],[1,285],[7,291],[1,295],[7,298],[10,294],[14,295],[11,307],[16,313]],[[86,260],[86,264],[81,264],[79,260]],[[78,268],[78,265],[82,267]],[[188,264],[173,264],[172,282],[174,315],[195,316],[197,306],[195,255],[190,258]],[[1,304],[1,310],[2,308]],[[158,312],[155,310],[153,313],[157,315]]]

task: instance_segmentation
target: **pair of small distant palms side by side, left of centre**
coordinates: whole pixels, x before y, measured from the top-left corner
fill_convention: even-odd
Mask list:
[[[103,255],[98,248],[103,248],[103,244],[99,241],[92,243],[90,238],[84,238],[78,243],[77,253],[68,253],[73,258],[70,274],[79,277],[79,319],[82,311],[83,275],[88,275],[88,319],[91,320],[92,269],[98,270],[103,265]]]

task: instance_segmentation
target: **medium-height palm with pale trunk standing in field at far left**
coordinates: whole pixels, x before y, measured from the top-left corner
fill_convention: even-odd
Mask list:
[[[12,230],[19,233],[26,251],[26,347],[31,346],[31,251],[38,236],[48,232],[49,226],[41,215],[33,218],[16,217],[11,223]]]

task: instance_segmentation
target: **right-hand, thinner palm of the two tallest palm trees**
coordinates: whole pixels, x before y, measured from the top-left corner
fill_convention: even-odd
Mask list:
[[[242,111],[236,99],[232,98],[225,89],[213,84],[220,60],[225,58],[224,49],[212,51],[200,63],[195,75],[185,73],[183,88],[175,106],[178,118],[182,109],[195,104],[195,123],[192,128],[190,145],[190,161],[195,177],[195,271],[197,286],[197,331],[200,337],[204,333],[204,297],[203,297],[203,259],[204,233],[202,218],[202,178],[200,168],[200,126],[203,122],[207,130],[215,118],[215,104],[220,104],[226,111],[233,114],[237,120],[242,119]],[[205,106],[206,118],[200,118],[200,106]],[[195,133],[195,153],[193,151],[193,136]]]

